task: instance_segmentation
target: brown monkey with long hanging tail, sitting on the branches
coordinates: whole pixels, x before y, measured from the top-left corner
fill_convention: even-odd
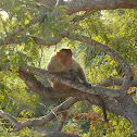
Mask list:
[[[58,76],[63,76],[68,79],[76,79],[76,82],[83,82],[86,86],[89,86],[80,64],[73,58],[71,48],[64,47],[59,49],[57,52],[53,52],[47,64],[47,70]],[[51,79],[49,79],[49,82],[51,84],[51,87],[58,91],[67,91],[72,89],[72,87],[63,85],[59,82]],[[98,96],[98,98],[101,103],[103,120],[104,122],[108,122],[103,99],[101,96]]]

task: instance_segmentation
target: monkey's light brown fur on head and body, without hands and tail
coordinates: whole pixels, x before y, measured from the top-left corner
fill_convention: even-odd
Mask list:
[[[51,58],[47,64],[47,70],[50,73],[57,74],[59,76],[64,76],[66,78],[71,78],[68,71],[73,70],[76,73],[77,77],[82,82],[86,83],[86,77],[85,77],[84,71],[80,67],[79,63],[72,58],[72,54],[73,53],[70,48],[61,48],[59,51],[54,52],[51,55]],[[52,88],[54,88],[59,91],[65,91],[65,90],[70,90],[72,88],[72,87],[65,86],[63,84],[60,84],[58,82],[53,82],[53,80],[50,80],[50,84],[51,84]]]

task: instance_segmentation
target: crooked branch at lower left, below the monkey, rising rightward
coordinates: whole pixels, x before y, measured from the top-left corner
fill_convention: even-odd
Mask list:
[[[27,120],[25,122],[18,122],[12,115],[4,113],[2,110],[0,110],[0,116],[7,117],[10,122],[12,122],[15,125],[15,129],[13,132],[17,132],[23,127],[45,125],[46,123],[53,120],[55,115],[61,114],[62,111],[68,110],[76,101],[78,101],[76,98],[71,98],[60,105],[55,107],[48,115],[42,116],[38,120]]]

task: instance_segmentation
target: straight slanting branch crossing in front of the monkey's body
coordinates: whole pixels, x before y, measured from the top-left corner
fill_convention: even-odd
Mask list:
[[[76,83],[76,82],[73,82],[73,80],[67,79],[67,78],[62,78],[60,76],[55,76],[53,74],[50,74],[46,70],[33,67],[33,66],[29,66],[29,65],[22,66],[22,67],[20,67],[20,70],[23,71],[23,72],[27,72],[29,74],[34,74],[34,75],[38,75],[38,76],[42,76],[42,77],[46,77],[46,78],[50,78],[50,79],[60,82],[61,84],[71,86],[75,89],[78,89],[78,90],[87,92],[87,94],[103,95],[103,96],[109,96],[109,97],[119,97],[119,94],[120,94],[119,90],[109,89],[109,88],[105,88],[105,87],[94,87],[94,86],[87,87],[84,84]]]

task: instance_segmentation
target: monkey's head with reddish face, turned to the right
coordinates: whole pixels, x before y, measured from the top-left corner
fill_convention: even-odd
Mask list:
[[[58,58],[61,60],[61,63],[71,66],[73,63],[72,59],[72,50],[70,48],[61,48],[59,51],[57,51]]]

